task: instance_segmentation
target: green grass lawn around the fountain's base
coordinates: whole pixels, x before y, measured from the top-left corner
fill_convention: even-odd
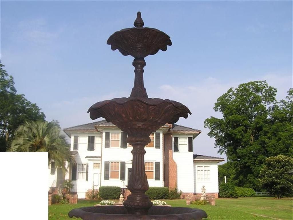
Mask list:
[[[293,200],[292,199],[274,199],[270,197],[253,197],[216,199],[216,206],[211,205],[186,205],[184,199],[165,200],[167,204],[173,207],[199,208],[207,212],[207,219],[293,219]],[[54,204],[49,206],[49,220],[69,220],[68,212],[71,209],[93,206],[99,201],[80,200],[78,204]],[[116,200],[118,202],[118,200]],[[76,218],[74,218],[76,219]]]

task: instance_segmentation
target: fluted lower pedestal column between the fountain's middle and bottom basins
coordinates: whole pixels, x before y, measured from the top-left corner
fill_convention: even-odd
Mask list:
[[[150,138],[147,137],[134,137],[129,136],[127,142],[133,147],[132,153],[132,169],[130,175],[130,181],[127,188],[131,194],[124,201],[124,206],[128,211],[128,214],[140,214],[146,215],[149,208],[152,206],[152,202],[145,192],[149,189],[147,182],[147,175],[145,173],[144,166],[144,146],[150,142]]]

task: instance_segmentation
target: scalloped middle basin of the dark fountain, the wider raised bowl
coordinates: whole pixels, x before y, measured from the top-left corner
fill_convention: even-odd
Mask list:
[[[103,117],[128,134],[140,135],[149,135],[166,123],[176,123],[180,117],[187,118],[191,114],[185,105],[177,101],[141,97],[100,101],[93,104],[88,112],[93,120]]]

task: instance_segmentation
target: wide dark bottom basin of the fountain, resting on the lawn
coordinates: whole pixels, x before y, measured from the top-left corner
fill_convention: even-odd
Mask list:
[[[68,213],[83,220],[200,220],[207,218],[201,209],[152,206],[147,215],[130,215],[124,206],[96,206],[72,209]]]

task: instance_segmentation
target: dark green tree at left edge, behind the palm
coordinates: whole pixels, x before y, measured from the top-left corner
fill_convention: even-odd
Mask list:
[[[36,104],[16,94],[13,77],[3,67],[0,62],[0,151],[5,151],[8,140],[24,121],[45,119]]]

